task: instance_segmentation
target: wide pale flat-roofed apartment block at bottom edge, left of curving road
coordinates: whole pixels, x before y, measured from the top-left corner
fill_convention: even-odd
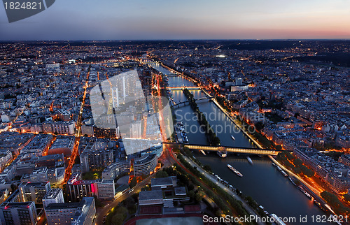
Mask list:
[[[92,224],[96,214],[94,198],[85,197],[77,203],[51,203],[45,214],[48,225]]]

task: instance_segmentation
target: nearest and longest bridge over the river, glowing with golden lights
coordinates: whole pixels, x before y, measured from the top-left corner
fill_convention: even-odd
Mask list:
[[[279,150],[265,150],[260,148],[251,147],[227,147],[227,146],[209,146],[209,145],[183,145],[188,147],[190,150],[203,150],[203,151],[221,151],[221,152],[236,152],[241,154],[267,154],[277,155]]]

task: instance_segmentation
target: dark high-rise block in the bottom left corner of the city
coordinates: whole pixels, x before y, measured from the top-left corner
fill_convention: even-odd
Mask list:
[[[0,222],[6,225],[35,225],[37,222],[35,203],[2,203],[0,206]]]

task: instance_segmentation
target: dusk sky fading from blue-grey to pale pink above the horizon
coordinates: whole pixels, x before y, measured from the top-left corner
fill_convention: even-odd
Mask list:
[[[350,38],[349,0],[56,0],[0,40]]]

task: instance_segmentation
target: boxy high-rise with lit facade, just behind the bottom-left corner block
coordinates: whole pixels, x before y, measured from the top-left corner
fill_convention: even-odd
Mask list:
[[[50,182],[27,182],[18,186],[20,201],[34,201],[36,204],[43,203],[43,197],[50,191]]]

